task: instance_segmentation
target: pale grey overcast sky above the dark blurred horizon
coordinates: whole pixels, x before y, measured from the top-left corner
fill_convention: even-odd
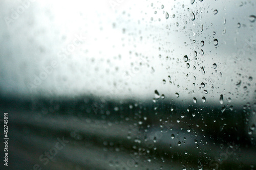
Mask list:
[[[255,5],[1,1],[1,93],[255,101]]]

